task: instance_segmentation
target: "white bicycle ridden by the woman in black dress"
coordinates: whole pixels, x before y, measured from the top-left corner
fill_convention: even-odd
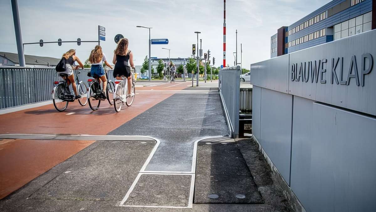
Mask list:
[[[132,73],[133,75],[133,73]],[[128,95],[128,81],[127,78],[121,76],[121,80],[115,80],[115,92],[114,92],[114,107],[116,112],[120,112],[121,107],[125,103],[128,107],[132,105],[136,96],[135,82],[132,80],[132,86],[130,93],[134,95],[131,97]],[[124,98],[125,97],[125,98]]]

